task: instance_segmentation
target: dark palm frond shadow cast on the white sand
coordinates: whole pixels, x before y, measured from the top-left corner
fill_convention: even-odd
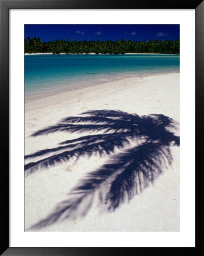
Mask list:
[[[25,165],[26,175],[83,155],[97,153],[100,156],[110,155],[110,159],[80,180],[70,192],[69,199],[57,205],[32,229],[43,228],[66,218],[85,216],[96,194],[99,202],[106,204],[109,211],[130,201],[172,163],[170,146],[180,145],[180,137],[173,133],[176,129],[177,123],[162,114],[139,116],[116,110],[92,110],[36,131],[33,137],[57,131],[101,133],[64,141],[56,148],[26,155],[25,159],[42,158]],[[115,152],[115,148],[119,151]]]

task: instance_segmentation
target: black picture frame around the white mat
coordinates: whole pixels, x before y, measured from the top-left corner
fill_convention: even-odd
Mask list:
[[[195,9],[195,119],[196,133],[201,135],[202,102],[204,96],[204,2],[202,0],[160,1],[136,0],[106,1],[106,0],[0,0],[0,109],[1,109],[1,255],[130,255],[135,253],[150,253],[150,247],[9,247],[9,10],[10,9]],[[191,39],[192,40],[192,39]],[[196,150],[201,143],[201,137],[196,137]],[[200,148],[200,147],[199,147]],[[202,148],[202,147],[201,147]],[[198,152],[198,150],[197,150]],[[201,152],[201,151],[199,151]],[[199,154],[195,155],[198,166]],[[202,166],[202,165],[201,165]],[[196,174],[197,189],[201,188],[202,170]],[[197,196],[201,195],[198,191]],[[199,203],[197,203],[199,201]],[[202,213],[202,200],[196,199],[196,213]],[[198,222],[196,223],[198,224]],[[200,225],[200,224],[199,224]],[[198,225],[196,233],[198,233]],[[201,245],[201,237],[197,237],[195,247]],[[154,248],[156,250],[158,248]],[[160,253],[166,248],[160,248]],[[169,248],[169,250],[178,248]],[[195,250],[195,248],[188,248]],[[117,252],[116,252],[117,250]],[[172,251],[173,252],[173,251]],[[157,252],[159,253],[159,252]],[[195,251],[190,252],[194,254]]]

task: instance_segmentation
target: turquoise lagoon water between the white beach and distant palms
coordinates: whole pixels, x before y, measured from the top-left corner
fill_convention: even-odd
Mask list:
[[[26,99],[124,77],[180,71],[180,55],[25,55]]]

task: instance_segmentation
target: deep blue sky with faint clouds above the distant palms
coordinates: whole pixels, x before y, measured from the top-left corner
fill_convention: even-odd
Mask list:
[[[70,40],[112,40],[131,39],[133,41],[176,40],[180,38],[177,24],[25,24],[24,38],[40,38],[42,42],[56,39]]]

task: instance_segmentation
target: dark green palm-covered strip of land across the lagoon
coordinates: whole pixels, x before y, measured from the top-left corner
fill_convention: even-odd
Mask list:
[[[124,53],[160,53],[180,54],[180,40],[151,40],[148,42],[132,40],[116,41],[79,41],[79,40],[55,40],[41,42],[40,38],[24,39],[24,53],[103,53],[103,54],[124,54]]]

